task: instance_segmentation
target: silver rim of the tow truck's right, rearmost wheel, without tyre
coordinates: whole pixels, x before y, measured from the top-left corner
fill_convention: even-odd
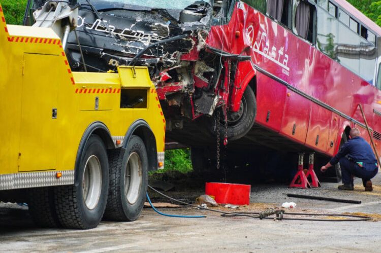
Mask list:
[[[124,175],[124,194],[130,204],[138,200],[141,185],[142,163],[138,153],[133,152],[129,156]]]

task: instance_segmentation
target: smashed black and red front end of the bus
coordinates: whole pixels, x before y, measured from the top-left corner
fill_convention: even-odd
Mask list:
[[[37,2],[41,0],[35,0],[35,7]],[[208,129],[205,132],[211,136],[220,126],[221,137],[230,139],[250,130],[255,118],[255,111],[248,111],[255,110],[253,90],[246,100],[241,98],[255,69],[247,50],[250,40],[237,13],[233,15],[242,11],[235,8],[241,2],[79,0],[78,4],[77,34],[69,34],[65,48],[73,70],[148,66],[169,129],[182,128],[185,120],[201,131]]]

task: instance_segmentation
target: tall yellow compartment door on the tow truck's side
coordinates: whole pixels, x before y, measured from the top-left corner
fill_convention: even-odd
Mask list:
[[[59,118],[55,79],[61,78],[62,69],[52,66],[58,57],[24,54],[19,171],[55,169]]]

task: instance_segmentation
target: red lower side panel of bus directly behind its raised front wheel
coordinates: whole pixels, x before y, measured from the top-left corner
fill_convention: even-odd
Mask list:
[[[282,124],[286,87],[257,72],[256,121],[277,132]]]

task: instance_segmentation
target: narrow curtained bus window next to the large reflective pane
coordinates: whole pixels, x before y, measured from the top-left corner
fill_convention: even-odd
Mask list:
[[[314,44],[316,9],[306,1],[300,1],[296,7],[295,29],[297,34],[303,39]]]

